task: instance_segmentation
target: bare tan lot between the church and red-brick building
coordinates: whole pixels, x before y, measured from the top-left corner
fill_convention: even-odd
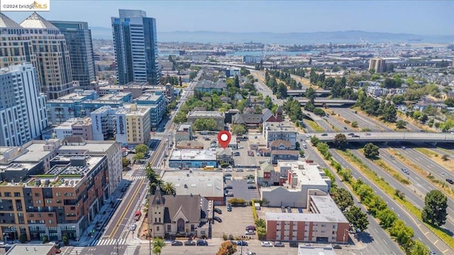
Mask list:
[[[230,199],[228,197],[227,199]],[[254,225],[253,210],[250,206],[233,207],[231,212],[227,211],[227,206],[216,206],[222,210],[222,214],[216,213],[216,216],[222,219],[222,222],[214,222],[212,237],[221,238],[223,234],[233,234],[234,237],[244,235],[245,227]],[[257,239],[254,235],[251,238]]]

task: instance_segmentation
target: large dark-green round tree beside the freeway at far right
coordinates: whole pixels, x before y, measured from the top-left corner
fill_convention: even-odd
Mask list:
[[[422,211],[423,222],[431,225],[441,226],[446,222],[446,208],[448,198],[438,190],[429,191],[424,198],[424,208]]]

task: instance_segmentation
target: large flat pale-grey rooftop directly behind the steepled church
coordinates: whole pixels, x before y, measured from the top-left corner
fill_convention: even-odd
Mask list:
[[[162,180],[173,183],[177,195],[223,197],[221,171],[165,171]]]

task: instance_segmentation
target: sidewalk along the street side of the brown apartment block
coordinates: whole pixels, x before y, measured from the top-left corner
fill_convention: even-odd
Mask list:
[[[77,241],[71,241],[70,245],[72,246],[89,246],[92,242],[99,239],[97,237],[101,232],[104,232],[104,227],[106,226],[107,222],[111,218],[111,215],[114,214],[116,208],[112,206],[111,203],[114,203],[117,198],[121,198],[123,196],[123,192],[121,192],[121,188],[124,186],[126,180],[122,180],[117,188],[115,189],[114,193],[112,193],[111,197],[107,200],[107,203],[101,207],[99,210],[99,214],[94,217],[92,223],[87,227],[87,229],[81,234],[81,237]],[[97,230],[96,230],[97,228]],[[94,237],[91,237],[90,233],[94,229]]]

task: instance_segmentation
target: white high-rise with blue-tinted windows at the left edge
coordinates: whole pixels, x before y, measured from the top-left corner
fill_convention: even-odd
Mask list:
[[[0,69],[0,146],[21,146],[39,137],[48,127],[45,107],[32,64]]]

